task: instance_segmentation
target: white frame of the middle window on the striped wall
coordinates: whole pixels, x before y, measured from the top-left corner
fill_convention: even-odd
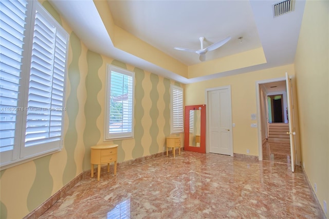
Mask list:
[[[116,72],[121,75],[125,75],[131,77],[131,131],[130,132],[120,132],[120,133],[109,133],[109,115],[110,115],[110,107],[109,104],[111,102],[111,74],[112,72]],[[106,66],[106,90],[105,90],[105,115],[104,115],[104,141],[112,141],[112,140],[121,140],[121,139],[130,139],[134,138],[134,126],[135,126],[135,72],[129,71],[114,65],[107,64]]]

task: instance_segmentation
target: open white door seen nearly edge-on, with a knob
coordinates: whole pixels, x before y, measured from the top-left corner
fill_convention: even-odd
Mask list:
[[[294,129],[294,117],[293,117],[293,104],[291,95],[291,81],[288,73],[286,72],[286,86],[287,86],[287,108],[288,108],[288,121],[289,121],[289,134],[290,135],[290,159],[291,159],[291,171],[295,172],[296,166],[296,149],[295,149],[295,129]]]

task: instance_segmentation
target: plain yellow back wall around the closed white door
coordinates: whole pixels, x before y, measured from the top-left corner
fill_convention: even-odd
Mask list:
[[[207,88],[231,85],[232,123],[233,127],[233,153],[258,156],[257,129],[250,127],[251,114],[257,113],[256,81],[282,78],[285,72],[294,75],[294,65],[285,65],[276,68],[246,72],[240,75],[217,78],[193,84],[187,84],[185,92],[185,105],[206,104],[205,90]]]

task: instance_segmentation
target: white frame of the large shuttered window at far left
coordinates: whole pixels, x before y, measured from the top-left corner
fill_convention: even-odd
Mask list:
[[[56,50],[56,43],[58,33],[61,35],[61,38],[64,39],[64,43],[66,46],[66,50],[63,51],[64,53],[64,62],[62,69],[63,73],[63,81],[60,81],[63,83],[63,96],[62,96],[62,113],[61,113],[61,131],[60,131],[60,137],[59,139],[55,141],[49,141],[46,140],[46,143],[36,143],[34,145],[31,145],[29,147],[25,144],[25,138],[26,138],[26,130],[27,130],[27,113],[28,113],[28,98],[29,98],[29,84],[30,84],[30,68],[31,68],[31,57],[32,57],[32,44],[33,44],[33,37],[34,37],[34,27],[35,27],[35,15],[36,13],[40,13],[40,15],[45,19],[46,22],[48,22],[50,25],[52,25],[54,28],[56,28],[56,32],[54,33],[54,50],[53,50],[53,56],[54,60],[58,59],[58,56],[56,56],[56,53],[58,50]],[[67,78],[67,65],[68,65],[68,48],[69,48],[69,34],[67,31],[49,14],[49,12],[38,2],[38,1],[27,1],[26,5],[26,13],[25,13],[25,26],[24,26],[24,39],[23,39],[23,51],[22,51],[22,59],[20,61],[21,63],[21,71],[20,71],[20,80],[19,80],[19,95],[17,97],[17,107],[16,107],[16,120],[15,120],[15,134],[14,134],[14,145],[13,149],[9,151],[0,152],[1,157],[1,163],[0,163],[0,169],[7,169],[9,167],[13,167],[16,165],[19,165],[21,163],[34,160],[39,157],[43,157],[58,151],[61,151],[63,148],[63,139],[64,139],[64,116],[65,116],[65,86],[66,86],[66,78]],[[15,36],[14,36],[15,37]],[[4,44],[5,45],[5,44]],[[44,47],[40,47],[44,48]],[[63,61],[63,60],[62,60]],[[54,61],[55,62],[55,61]],[[52,63],[54,65],[54,63]],[[62,65],[60,66],[62,67]],[[54,78],[54,67],[52,67],[51,70],[51,78]],[[51,79],[53,81],[53,79]],[[53,82],[51,85],[51,89],[53,89]],[[51,103],[51,102],[50,102]],[[47,109],[45,109],[47,110]],[[49,107],[49,111],[52,111],[52,108]],[[57,111],[57,109],[56,109]],[[49,114],[49,119],[50,115]],[[47,120],[49,122],[51,120]],[[53,126],[49,126],[50,127]],[[46,138],[48,139],[48,138]]]

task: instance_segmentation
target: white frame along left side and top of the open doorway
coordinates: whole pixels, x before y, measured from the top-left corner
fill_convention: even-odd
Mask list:
[[[261,84],[267,84],[271,82],[286,81],[285,77],[272,78],[261,81],[256,81],[256,104],[257,104],[257,133],[258,133],[258,159],[263,160],[263,139],[262,139],[262,118],[261,118],[261,104],[260,104],[260,89]]]

